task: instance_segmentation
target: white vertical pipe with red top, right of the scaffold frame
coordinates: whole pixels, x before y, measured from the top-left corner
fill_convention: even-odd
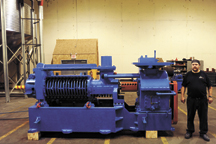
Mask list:
[[[40,62],[44,63],[44,48],[43,48],[43,0],[38,2],[39,5],[39,36],[40,36]]]

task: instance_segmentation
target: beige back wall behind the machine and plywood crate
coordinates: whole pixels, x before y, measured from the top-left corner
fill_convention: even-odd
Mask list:
[[[77,2],[77,3],[76,3]],[[98,39],[118,73],[137,72],[141,55],[195,57],[216,68],[216,0],[64,0],[44,4],[45,61],[56,39]]]

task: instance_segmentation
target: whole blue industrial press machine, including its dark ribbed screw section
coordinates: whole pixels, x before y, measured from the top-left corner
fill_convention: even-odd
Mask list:
[[[116,133],[132,131],[174,131],[168,74],[160,70],[171,62],[158,62],[141,56],[139,73],[115,74],[111,56],[96,64],[42,64],[34,68],[26,81],[26,94],[38,101],[29,107],[29,133],[38,131]],[[86,74],[54,75],[56,70],[97,69],[100,79]],[[121,95],[120,79],[133,78],[137,99],[129,106]],[[133,84],[134,84],[133,83]]]

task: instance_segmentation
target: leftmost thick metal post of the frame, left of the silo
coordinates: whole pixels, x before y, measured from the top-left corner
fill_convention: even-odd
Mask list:
[[[2,31],[2,54],[4,63],[4,83],[5,83],[5,101],[10,102],[8,65],[7,65],[7,37],[6,37],[6,19],[5,19],[5,0],[1,0],[1,31]]]

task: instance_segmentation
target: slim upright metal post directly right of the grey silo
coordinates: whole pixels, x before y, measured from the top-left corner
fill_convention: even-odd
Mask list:
[[[21,11],[21,39],[22,39],[22,54],[23,54],[23,80],[26,81],[26,59],[25,59],[25,33],[24,33],[24,5],[20,4],[20,11]],[[28,98],[27,95],[25,95],[25,98]]]

